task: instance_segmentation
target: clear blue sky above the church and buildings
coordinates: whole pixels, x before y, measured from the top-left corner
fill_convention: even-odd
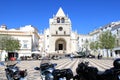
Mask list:
[[[0,25],[8,29],[33,25],[43,31],[59,7],[79,34],[120,20],[120,0],[0,0]]]

